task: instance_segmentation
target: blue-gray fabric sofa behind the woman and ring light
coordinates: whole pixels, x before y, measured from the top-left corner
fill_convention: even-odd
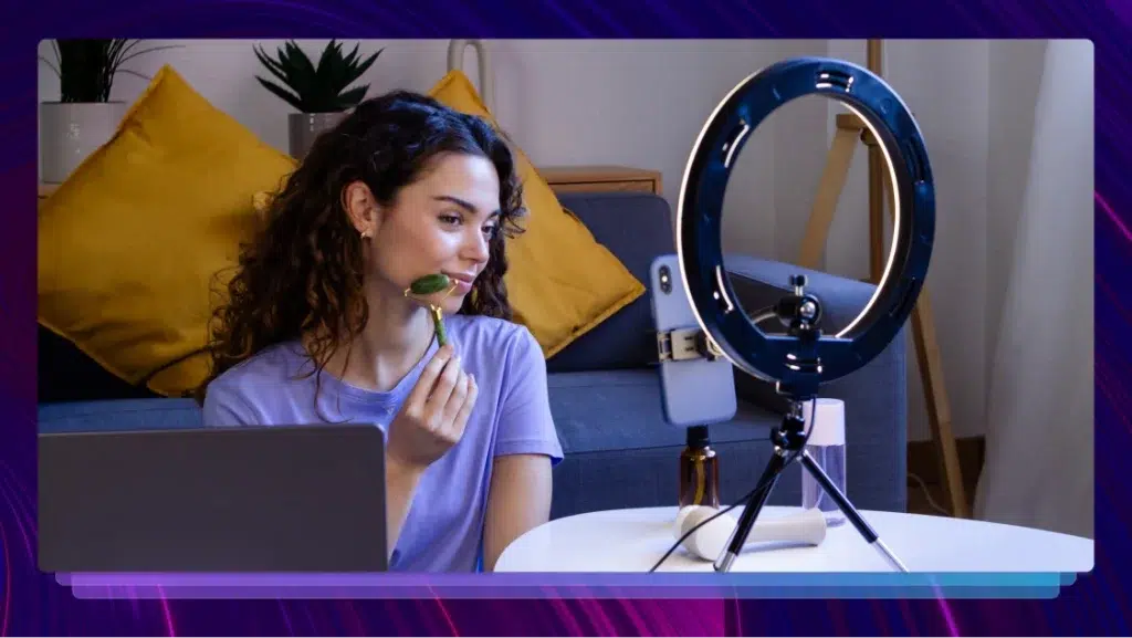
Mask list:
[[[671,210],[649,194],[567,194],[563,205],[589,227],[642,282],[649,265],[675,250]],[[797,269],[749,256],[729,256],[728,269],[748,309],[771,305]],[[803,271],[824,301],[825,330],[844,325],[873,287]],[[671,505],[685,432],[662,416],[648,296],[637,299],[547,361],[551,410],[566,458],[555,473],[552,518],[586,511]],[[823,395],[846,401],[848,494],[863,509],[906,508],[904,340],[858,373],[827,385]],[[199,427],[190,400],[164,399],[125,386],[68,343],[40,331],[40,431]],[[764,383],[737,373],[739,411],[711,426],[720,454],[722,499],[751,491],[770,454],[770,428],[781,402]],[[796,466],[771,504],[797,504]]]

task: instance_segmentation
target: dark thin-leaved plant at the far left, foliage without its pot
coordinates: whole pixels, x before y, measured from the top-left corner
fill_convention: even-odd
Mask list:
[[[154,51],[178,49],[177,45],[136,49],[142,42],[144,41],[125,37],[53,40],[51,45],[55,63],[52,65],[51,60],[42,56],[40,60],[59,76],[61,102],[109,102],[110,90],[118,74],[151,79],[135,70],[122,68],[123,63]]]

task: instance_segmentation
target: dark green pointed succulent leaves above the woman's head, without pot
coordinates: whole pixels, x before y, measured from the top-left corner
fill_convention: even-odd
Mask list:
[[[275,58],[268,57],[260,46],[256,46],[259,62],[283,86],[259,76],[256,76],[256,79],[264,88],[301,113],[345,111],[357,107],[369,91],[368,84],[353,88],[349,86],[374,65],[381,51],[385,51],[380,49],[369,58],[361,59],[358,56],[358,46],[355,44],[353,51],[343,54],[342,44],[332,40],[323,49],[318,66],[311,62],[293,40],[278,48]]]

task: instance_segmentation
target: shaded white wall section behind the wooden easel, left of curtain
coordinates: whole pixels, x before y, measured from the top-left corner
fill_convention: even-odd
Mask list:
[[[866,43],[831,41],[830,56],[865,63]],[[987,41],[884,42],[883,75],[920,125],[936,186],[936,237],[927,290],[957,436],[979,435],[986,414],[986,232],[990,85]],[[832,138],[833,109],[829,117]],[[1009,154],[1009,150],[1003,150]],[[1019,158],[1015,161],[1021,160]],[[855,158],[831,229],[825,269],[868,277],[867,154]],[[1019,193],[1021,190],[1019,189]],[[911,326],[909,436],[931,429]]]

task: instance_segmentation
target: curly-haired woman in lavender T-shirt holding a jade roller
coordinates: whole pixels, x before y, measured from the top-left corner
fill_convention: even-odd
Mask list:
[[[412,93],[368,100],[274,198],[215,314],[208,426],[372,423],[386,433],[392,570],[492,570],[549,518],[561,460],[546,363],[509,321],[515,160],[483,120]],[[431,316],[405,296],[456,282]]]

